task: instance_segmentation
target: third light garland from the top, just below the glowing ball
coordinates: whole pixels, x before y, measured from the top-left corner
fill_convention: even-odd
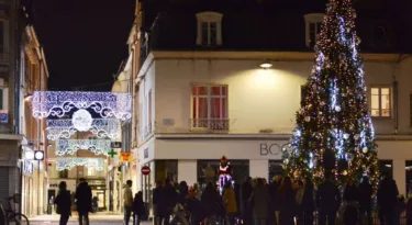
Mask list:
[[[110,139],[58,139],[56,155],[74,155],[80,149],[89,149],[96,155],[108,156],[110,144]]]

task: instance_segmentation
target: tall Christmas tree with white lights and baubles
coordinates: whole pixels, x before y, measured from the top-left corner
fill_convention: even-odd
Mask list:
[[[292,178],[325,173],[339,184],[364,175],[378,181],[377,146],[368,110],[360,40],[350,0],[330,0],[316,38],[315,60],[302,87],[290,153],[283,150],[286,171]]]

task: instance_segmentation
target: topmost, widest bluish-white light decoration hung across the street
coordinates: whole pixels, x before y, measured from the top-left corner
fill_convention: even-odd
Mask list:
[[[132,117],[132,94],[83,91],[34,91],[33,116],[63,117],[74,109],[91,109],[102,117],[127,121]]]

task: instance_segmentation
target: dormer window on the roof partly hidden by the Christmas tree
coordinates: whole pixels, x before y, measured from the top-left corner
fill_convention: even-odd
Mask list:
[[[316,44],[318,34],[322,29],[322,21],[324,14],[322,13],[311,13],[304,15],[305,25],[305,44],[309,48],[313,48]]]

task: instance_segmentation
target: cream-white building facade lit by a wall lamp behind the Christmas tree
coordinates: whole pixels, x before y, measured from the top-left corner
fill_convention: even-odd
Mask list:
[[[405,193],[412,179],[412,58],[363,57],[380,166]],[[268,58],[272,67],[260,68]],[[312,66],[313,53],[152,52],[136,80],[138,166],[152,168],[141,188],[166,177],[201,182],[205,167],[222,156],[238,180],[281,172],[281,148]]]

